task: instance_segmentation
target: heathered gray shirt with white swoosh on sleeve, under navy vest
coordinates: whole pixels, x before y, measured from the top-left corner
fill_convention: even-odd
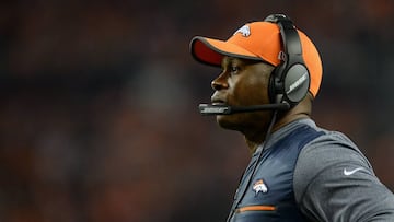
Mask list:
[[[379,180],[367,157],[343,133],[327,131],[311,119],[302,119],[273,133],[268,143],[279,140],[300,124],[325,132],[303,148],[296,165],[293,188],[302,213],[312,221],[394,222],[393,192]]]

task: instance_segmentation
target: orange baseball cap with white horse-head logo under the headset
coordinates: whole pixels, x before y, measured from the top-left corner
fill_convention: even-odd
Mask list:
[[[322,60],[312,40],[303,32],[298,30],[298,33],[311,77],[309,91],[316,96],[322,82]],[[280,63],[281,50],[279,26],[271,22],[245,24],[227,40],[196,36],[190,42],[190,52],[197,61],[218,67],[223,56],[263,60],[276,67]]]

